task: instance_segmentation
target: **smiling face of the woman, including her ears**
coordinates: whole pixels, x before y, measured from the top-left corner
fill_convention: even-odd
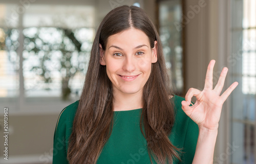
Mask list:
[[[99,46],[100,64],[106,65],[114,94],[142,93],[150,77],[151,65],[157,61],[157,41],[151,49],[146,34],[131,28],[111,35],[105,51]]]

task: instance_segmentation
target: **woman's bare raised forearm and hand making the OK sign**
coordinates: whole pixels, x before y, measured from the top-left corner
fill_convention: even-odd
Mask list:
[[[199,136],[193,164],[213,163],[222,105],[238,85],[238,82],[234,82],[220,95],[228,71],[224,67],[217,85],[212,89],[214,65],[215,60],[211,60],[207,68],[204,89],[200,91],[190,88],[185,96],[186,101],[182,101],[183,111],[199,127]],[[193,96],[197,98],[197,101],[194,105],[189,106]]]

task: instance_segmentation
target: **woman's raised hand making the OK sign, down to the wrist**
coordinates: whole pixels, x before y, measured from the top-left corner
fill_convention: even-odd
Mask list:
[[[199,128],[207,130],[218,129],[222,105],[238,85],[238,82],[234,82],[220,96],[228,69],[227,67],[222,69],[218,83],[212,89],[214,64],[215,60],[211,60],[208,65],[204,89],[201,91],[190,88],[185,96],[186,101],[182,101],[182,109],[189,118],[197,123]],[[189,106],[193,96],[197,98],[197,101],[193,106]]]

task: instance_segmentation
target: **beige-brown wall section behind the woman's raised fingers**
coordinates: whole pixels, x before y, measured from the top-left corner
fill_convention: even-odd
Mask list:
[[[211,59],[216,60],[214,85],[218,81],[222,68],[229,64],[227,62],[229,53],[229,1],[185,0],[185,3],[185,15],[190,17],[188,24],[185,26],[185,85],[186,90],[190,87],[202,90],[207,65]],[[202,7],[195,12],[195,6],[200,6],[200,3]],[[191,13],[194,13],[194,16]],[[229,83],[229,77],[227,76],[224,89],[228,87]],[[227,143],[229,142],[229,104],[228,99],[222,109],[215,160],[226,153]],[[229,159],[225,159],[222,162],[228,163],[228,161]]]

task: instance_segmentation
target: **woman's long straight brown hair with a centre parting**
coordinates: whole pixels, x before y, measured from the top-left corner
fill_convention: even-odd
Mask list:
[[[131,27],[148,36],[151,48],[154,48],[154,41],[157,40],[158,60],[152,63],[151,75],[143,87],[140,118],[140,129],[147,140],[151,161],[152,157],[157,163],[172,163],[174,157],[180,159],[178,149],[168,139],[175,116],[169,100],[170,82],[160,37],[153,22],[142,9],[121,6],[103,18],[93,42],[88,72],[69,139],[68,160],[71,164],[96,163],[111,135],[114,98],[106,67],[100,65],[99,43],[105,50],[109,36]]]

